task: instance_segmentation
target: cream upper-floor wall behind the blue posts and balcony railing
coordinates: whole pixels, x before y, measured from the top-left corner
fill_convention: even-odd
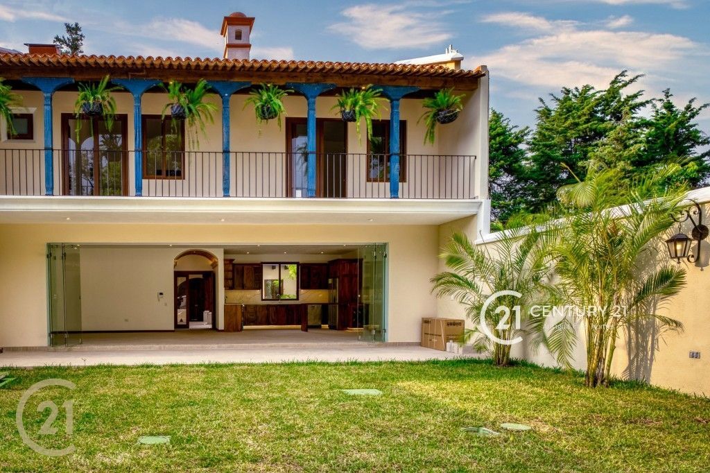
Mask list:
[[[485,87],[466,92],[466,108],[461,117],[452,124],[439,126],[437,142],[432,146],[424,143],[425,126],[423,121],[417,124],[423,109],[420,99],[403,99],[400,106],[401,119],[407,122],[407,175],[400,183],[402,197],[452,197],[454,192],[463,195],[464,189],[468,198],[479,196],[485,198],[481,190],[481,173],[486,172],[487,149],[481,148],[481,143],[487,143],[487,126],[481,127],[483,121],[487,124],[488,97],[487,80],[481,80]],[[41,149],[43,143],[43,95],[40,92],[21,91],[23,107],[33,111],[35,138],[32,141],[6,140],[0,143],[4,150]],[[485,93],[485,95],[484,95]],[[127,116],[126,145],[129,151],[134,146],[133,130],[133,98],[128,92],[114,92],[117,113]],[[74,110],[76,92],[55,92],[53,96],[53,148],[62,149],[62,114],[71,114]],[[278,128],[275,120],[267,124],[257,124],[253,107],[244,108],[248,95],[235,94],[231,97],[231,150],[253,154],[232,155],[231,162],[231,195],[253,197],[284,197],[286,195],[286,139],[285,126]],[[214,112],[214,122],[207,123],[204,134],[198,134],[197,143],[186,143],[188,151],[185,157],[185,179],[180,180],[143,180],[143,195],[185,195],[202,197],[222,196],[222,102],[216,94],[209,94],[207,101],[217,107]],[[319,97],[316,104],[318,118],[337,118],[337,110],[332,110],[336,97]],[[159,115],[167,103],[167,95],[162,92],[146,92],[143,95],[143,114]],[[293,94],[284,99],[288,117],[305,118],[307,115],[306,100]],[[389,108],[383,100],[381,118],[389,118]],[[284,124],[285,125],[285,124]],[[484,130],[485,129],[485,130]],[[363,138],[356,134],[354,123],[347,124],[349,153],[366,153],[366,131],[361,127]],[[431,158],[429,155],[477,156],[476,161],[469,158]],[[13,156],[11,165],[7,164]],[[145,157],[144,157],[145,158]],[[133,155],[128,159],[129,195],[135,193],[135,165]],[[43,153],[26,153],[9,155],[0,153],[0,195],[7,193],[4,187],[7,183],[6,173],[13,173],[15,187],[25,187],[27,180],[32,180],[38,189],[35,193],[44,193],[44,156]],[[62,156],[54,156],[55,194],[62,191]],[[368,195],[370,197],[386,197],[389,183],[368,183],[366,171],[368,161],[366,156],[351,156],[347,163],[348,197]],[[139,170],[140,172],[141,170]],[[256,180],[253,177],[256,176]]]

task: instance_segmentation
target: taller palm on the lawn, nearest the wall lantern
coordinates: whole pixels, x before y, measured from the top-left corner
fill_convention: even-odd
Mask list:
[[[586,344],[587,386],[608,386],[619,330],[653,320],[679,330],[677,320],[657,308],[684,286],[685,270],[668,262],[663,235],[673,226],[684,187],[661,187],[677,172],[667,165],[629,180],[618,169],[592,163],[584,181],[561,187],[550,225],[559,303],[580,310]],[[594,310],[586,310],[594,308]],[[544,330],[545,320],[530,323],[562,364],[569,364],[576,323],[569,317]]]

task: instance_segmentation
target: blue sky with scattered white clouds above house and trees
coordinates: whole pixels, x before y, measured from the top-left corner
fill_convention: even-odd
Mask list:
[[[488,65],[492,107],[521,125],[537,97],[622,69],[650,95],[710,102],[709,0],[0,0],[0,45],[49,43],[78,21],[88,54],[219,57],[231,11],[256,17],[255,58],[391,62],[452,43],[466,67]]]

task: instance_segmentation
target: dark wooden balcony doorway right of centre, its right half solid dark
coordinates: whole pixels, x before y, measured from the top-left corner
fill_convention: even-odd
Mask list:
[[[347,124],[316,120],[316,197],[347,197]],[[307,121],[286,119],[287,190],[289,197],[307,195]]]

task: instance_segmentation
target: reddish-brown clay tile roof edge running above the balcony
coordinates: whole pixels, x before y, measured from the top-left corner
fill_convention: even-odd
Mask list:
[[[275,73],[278,80],[279,72],[293,74],[324,75],[366,75],[381,76],[383,82],[388,77],[412,78],[416,85],[417,78],[442,78],[450,80],[476,80],[486,75],[486,66],[476,70],[453,70],[440,65],[405,65],[373,62],[322,62],[302,60],[228,60],[218,58],[153,58],[153,56],[97,56],[97,55],[38,55],[38,54],[7,54],[0,53],[0,70],[4,77],[22,77],[23,75],[50,75],[64,73],[72,77],[77,75],[77,69],[87,74],[111,74],[120,77],[126,74],[148,74],[154,71],[155,77],[163,77],[170,73],[180,75],[181,72],[194,75],[204,72],[209,79],[218,75],[228,74],[236,80],[240,74],[249,76],[256,73]],[[13,71],[16,71],[14,74]],[[307,77],[305,77],[307,79]],[[291,80],[291,79],[289,79]]]

